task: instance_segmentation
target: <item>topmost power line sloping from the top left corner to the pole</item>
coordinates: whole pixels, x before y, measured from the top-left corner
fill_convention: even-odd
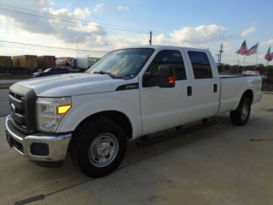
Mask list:
[[[27,10],[29,12],[49,14],[51,16],[58,16],[60,18],[65,18],[65,19],[72,19],[72,20],[76,20],[76,21],[84,21],[84,22],[88,22],[88,23],[95,23],[93,21],[89,21],[89,20],[85,20],[85,19],[78,19],[78,18],[75,19],[75,18],[72,18],[72,17],[69,17],[69,16],[61,16],[61,15],[57,15],[57,14],[51,14],[50,12],[45,12],[45,11],[30,10],[30,9],[27,9],[27,8],[22,8],[22,7],[14,6],[14,5],[8,5],[8,4],[5,4],[5,3],[0,3],[0,5],[8,6],[8,7],[11,7],[11,8],[16,8],[16,9],[19,9],[19,10]],[[99,22],[96,22],[96,23],[99,23]],[[136,29],[136,30],[143,30],[143,31],[148,31],[149,30],[149,29],[143,29],[143,28],[137,28],[137,27],[126,27],[126,26],[121,26],[121,25],[114,25],[114,24],[110,24],[110,23],[99,23],[99,24],[111,25],[111,26],[114,26],[114,27],[121,27],[121,28],[126,28],[126,29]]]

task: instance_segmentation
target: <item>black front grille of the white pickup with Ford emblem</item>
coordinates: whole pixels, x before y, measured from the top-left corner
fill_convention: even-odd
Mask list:
[[[36,132],[36,94],[32,88],[19,85],[10,87],[10,115],[12,124],[25,134]]]

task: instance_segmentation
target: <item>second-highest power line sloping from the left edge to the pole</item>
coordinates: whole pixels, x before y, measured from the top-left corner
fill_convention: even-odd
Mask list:
[[[123,31],[123,32],[133,32],[133,33],[147,34],[147,32],[134,31],[134,30],[130,30],[130,29],[119,29],[119,28],[115,28],[115,27],[104,27],[104,26],[101,26],[101,25],[89,25],[88,23],[79,23],[79,22],[68,21],[68,20],[64,20],[64,19],[56,19],[56,18],[49,17],[49,16],[41,16],[41,15],[37,15],[37,14],[29,14],[29,13],[26,13],[26,12],[20,12],[20,11],[10,10],[10,9],[6,9],[6,8],[0,8],[0,10],[5,10],[5,11],[8,11],[8,12],[14,12],[14,13],[19,13],[19,14],[24,14],[24,15],[28,15],[28,16],[36,16],[36,17],[40,17],[40,18],[43,18],[43,19],[57,20],[57,21],[62,21],[62,22],[66,22],[66,23],[82,24],[82,25],[88,25],[88,26],[92,26],[92,27],[100,27],[100,28],[104,28],[104,29],[119,30],[119,31]]]

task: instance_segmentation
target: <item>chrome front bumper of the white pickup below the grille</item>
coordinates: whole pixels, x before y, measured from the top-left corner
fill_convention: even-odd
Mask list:
[[[12,125],[11,116],[5,120],[5,128],[7,134],[7,140],[11,147],[14,147],[16,151],[23,154],[29,160],[44,161],[44,162],[57,162],[65,159],[67,155],[67,148],[71,139],[71,133],[62,134],[47,134],[44,132],[38,132],[32,135],[26,136],[19,132]],[[48,147],[47,155],[33,154],[31,145],[46,144]]]

